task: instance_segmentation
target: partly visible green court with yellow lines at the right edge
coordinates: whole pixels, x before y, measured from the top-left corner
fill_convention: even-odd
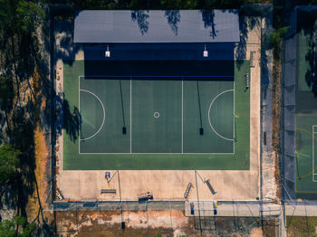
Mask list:
[[[300,25],[297,33],[295,190],[298,197],[317,194],[317,100],[315,78],[316,23]]]

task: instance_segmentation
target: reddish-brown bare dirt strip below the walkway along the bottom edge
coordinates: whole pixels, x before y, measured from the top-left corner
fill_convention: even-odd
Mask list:
[[[57,233],[62,236],[274,236],[275,224],[255,218],[186,217],[181,211],[56,212]],[[123,218],[123,219],[122,219]],[[125,228],[122,230],[121,221]],[[263,224],[263,226],[262,226]],[[202,235],[201,235],[202,234]]]

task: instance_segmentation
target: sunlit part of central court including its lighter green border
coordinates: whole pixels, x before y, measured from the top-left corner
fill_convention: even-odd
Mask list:
[[[63,128],[64,169],[248,169],[249,63],[234,71],[87,75],[85,62],[64,63],[64,103],[79,121],[77,138]]]

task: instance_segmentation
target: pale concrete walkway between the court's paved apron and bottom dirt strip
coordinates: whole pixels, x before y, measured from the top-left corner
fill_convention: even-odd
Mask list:
[[[194,214],[190,213],[190,204],[194,204]],[[122,205],[123,210],[138,211],[138,210],[185,210],[186,216],[214,216],[214,204],[216,204],[216,216],[280,216],[283,214],[283,206],[280,204],[245,201],[105,201],[97,202],[94,200],[87,200],[87,202],[54,202],[53,209],[55,211],[73,211],[73,210],[103,210],[113,211],[120,210]],[[199,206],[199,210],[198,210]],[[297,204],[285,205],[286,216],[317,216],[317,205]],[[200,213],[199,213],[200,212]]]

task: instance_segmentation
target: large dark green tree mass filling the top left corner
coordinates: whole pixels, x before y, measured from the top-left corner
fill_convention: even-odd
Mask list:
[[[0,70],[11,73],[15,79],[14,89],[19,104],[20,82],[25,79],[23,66],[32,62],[30,45],[36,40],[33,33],[44,16],[43,10],[33,1],[0,0],[0,51],[5,55]]]

